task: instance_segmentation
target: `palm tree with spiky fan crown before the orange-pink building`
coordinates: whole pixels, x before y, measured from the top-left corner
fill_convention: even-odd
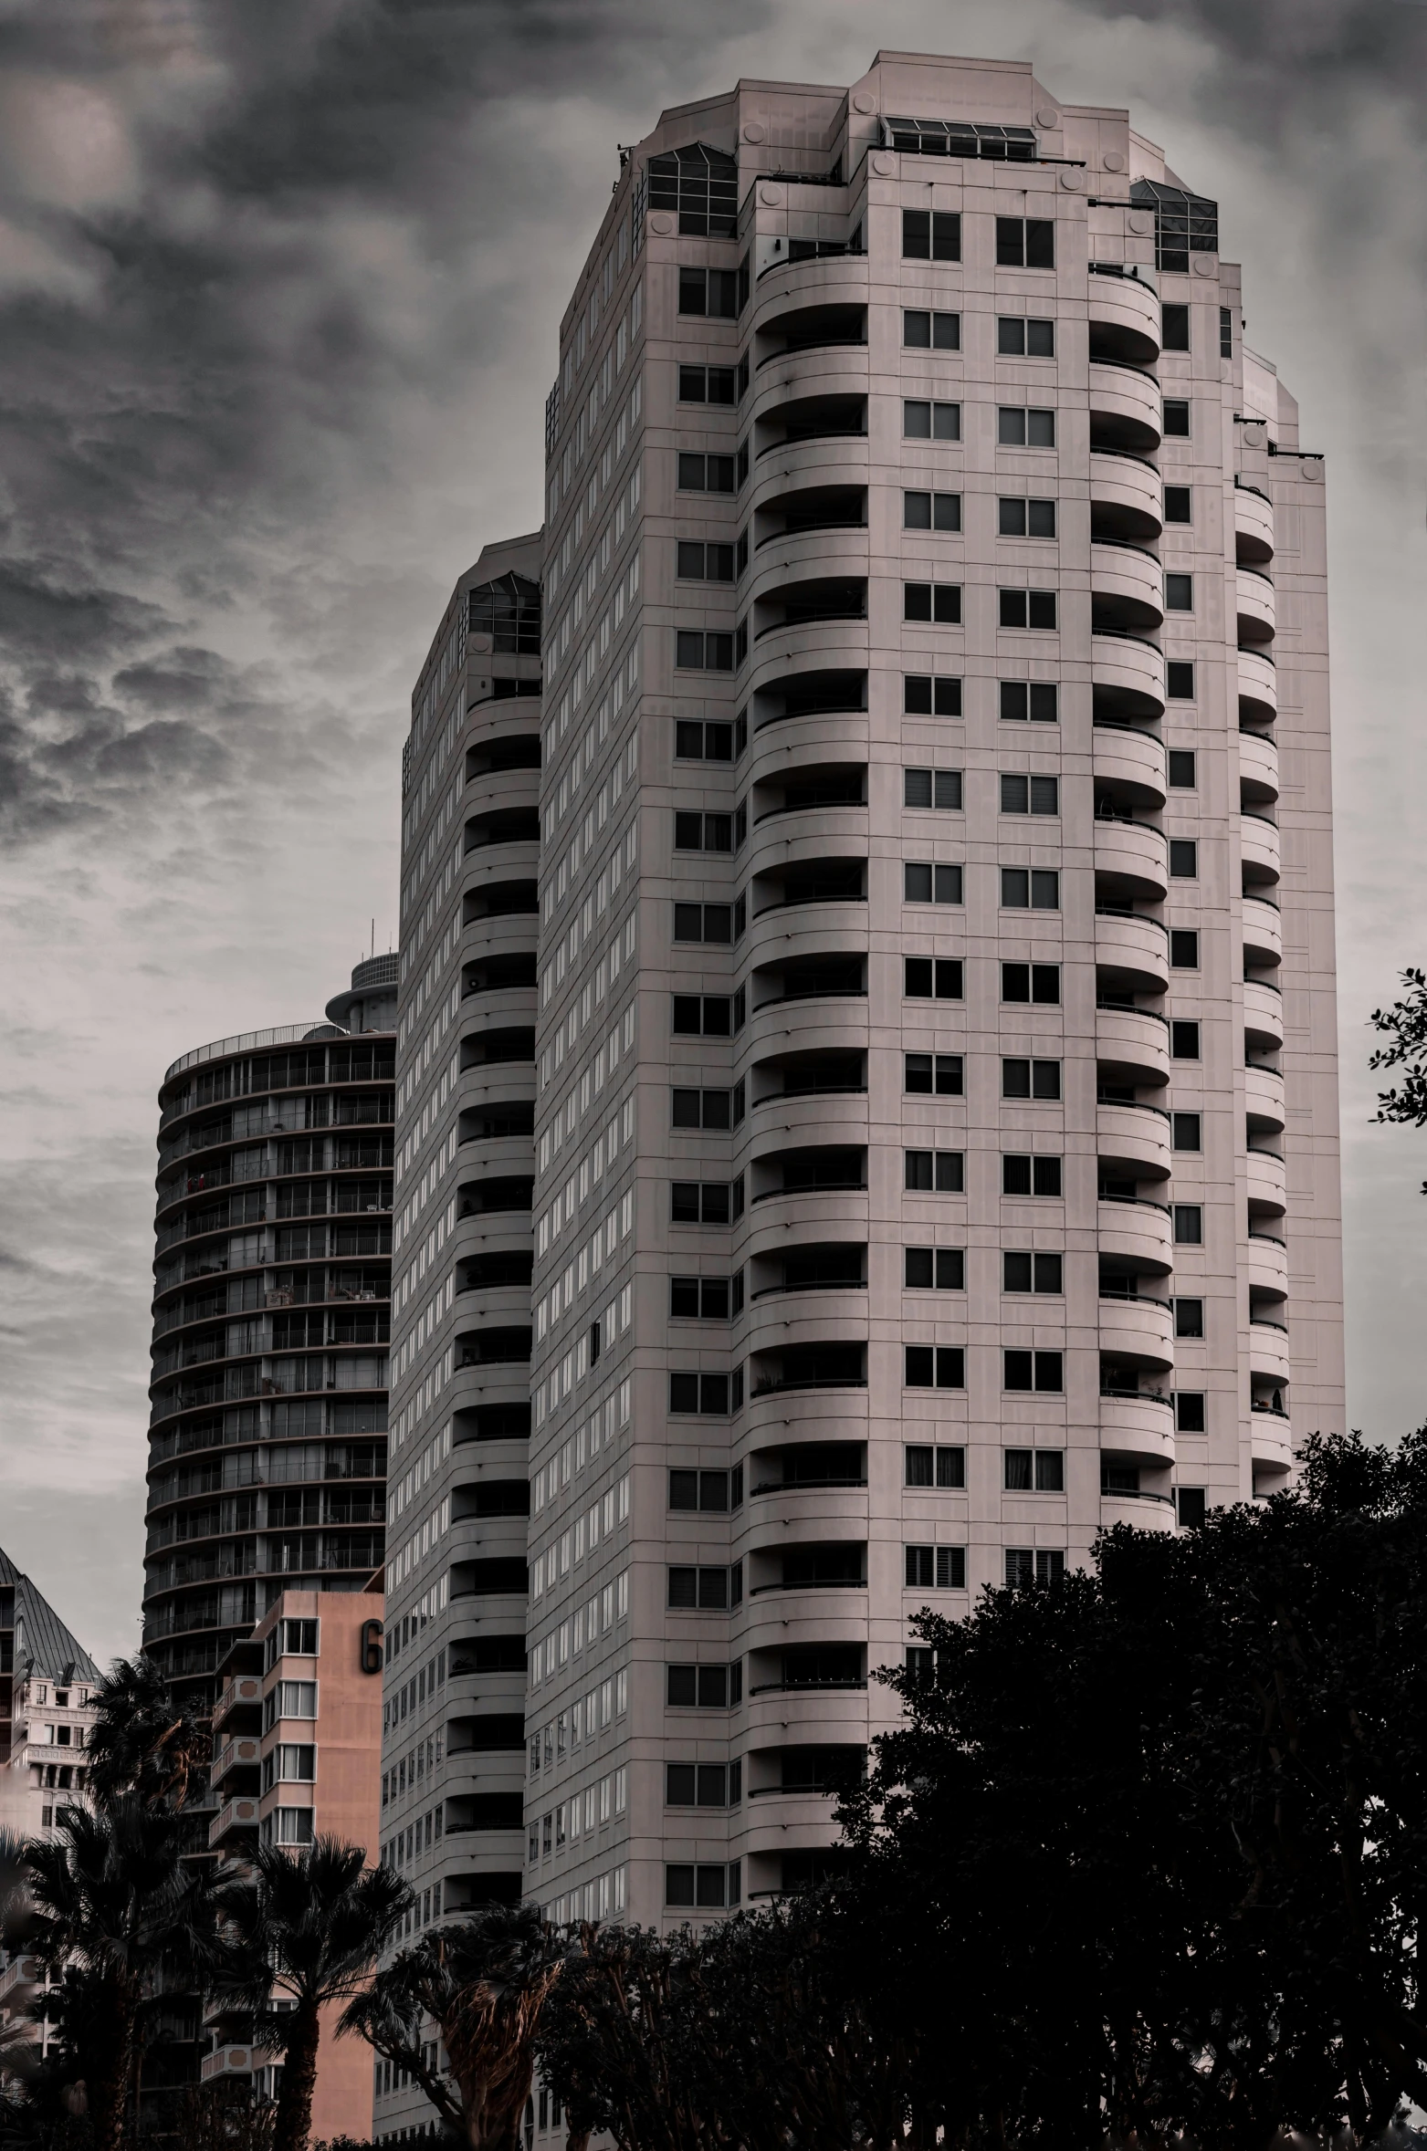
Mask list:
[[[213,1988],[254,2018],[256,2046],[282,2052],[273,2151],[303,2151],[321,2013],[359,1994],[411,1893],[390,1867],[366,1867],[362,1846],[319,1837],[297,1856],[258,1846],[252,1874],[215,1895],[224,1953]]]

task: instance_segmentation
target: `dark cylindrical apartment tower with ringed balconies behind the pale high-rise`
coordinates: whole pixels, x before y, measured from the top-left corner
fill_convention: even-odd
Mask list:
[[[396,966],[159,1091],[144,1650],[204,1704],[282,1590],[383,1557]]]

